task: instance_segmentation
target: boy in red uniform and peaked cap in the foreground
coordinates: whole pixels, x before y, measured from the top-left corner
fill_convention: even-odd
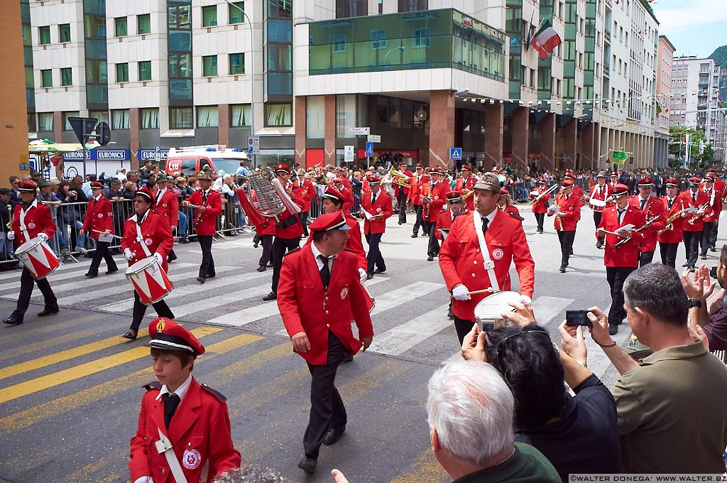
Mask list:
[[[160,317],[149,324],[151,366],[139,426],[132,437],[132,483],[204,482],[240,466],[225,396],[192,377],[204,346],[184,327]]]

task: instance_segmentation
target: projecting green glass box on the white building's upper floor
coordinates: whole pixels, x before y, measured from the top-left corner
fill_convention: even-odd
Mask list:
[[[505,80],[505,33],[454,9],[310,23],[310,75],[457,68]]]

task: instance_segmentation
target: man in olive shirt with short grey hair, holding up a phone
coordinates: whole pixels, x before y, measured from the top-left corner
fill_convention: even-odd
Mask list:
[[[664,265],[643,266],[624,282],[624,300],[631,330],[653,351],[640,364],[611,340],[603,311],[589,309],[593,340],[621,374],[614,399],[622,471],[722,474],[727,367],[690,335],[693,303],[678,274]]]

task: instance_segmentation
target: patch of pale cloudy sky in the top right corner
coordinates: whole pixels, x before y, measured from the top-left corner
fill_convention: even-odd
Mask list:
[[[656,0],[652,4],[659,35],[676,48],[675,55],[712,55],[727,45],[727,0]]]

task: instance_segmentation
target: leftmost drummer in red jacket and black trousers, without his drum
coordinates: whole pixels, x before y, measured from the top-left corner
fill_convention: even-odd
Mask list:
[[[40,237],[48,241],[55,234],[55,223],[46,205],[39,203],[36,199],[36,188],[38,185],[33,181],[20,181],[17,185],[20,203],[15,205],[12,215],[12,230],[7,233],[7,239],[15,241],[15,248],[20,247],[26,241]],[[28,311],[33,295],[33,284],[38,285],[43,294],[45,306],[39,317],[57,314],[59,311],[58,300],[50,287],[47,277],[40,280],[33,279],[31,271],[23,266],[23,273],[20,274],[20,295],[17,298],[15,311],[2,322],[9,325],[23,324],[23,316]]]

